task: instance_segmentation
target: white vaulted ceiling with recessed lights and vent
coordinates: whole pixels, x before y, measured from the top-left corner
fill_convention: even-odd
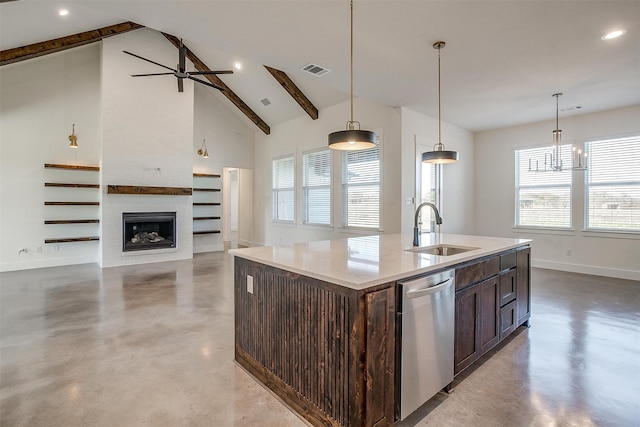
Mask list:
[[[271,126],[305,113],[262,64],[319,109],[349,99],[347,0],[20,0],[0,4],[0,48],[126,20],[181,37],[212,69],[241,61],[221,78]],[[551,119],[556,92],[561,108],[582,107],[561,118],[640,104],[640,1],[356,0],[354,38],[355,95],[432,117],[444,40],[442,119],[471,131]],[[299,70],[309,62],[331,72]]]

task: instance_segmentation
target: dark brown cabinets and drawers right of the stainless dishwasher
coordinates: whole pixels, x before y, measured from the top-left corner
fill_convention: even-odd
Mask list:
[[[456,374],[528,321],[529,259],[523,248],[456,270]]]

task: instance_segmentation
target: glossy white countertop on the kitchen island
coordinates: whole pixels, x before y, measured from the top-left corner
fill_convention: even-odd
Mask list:
[[[519,246],[528,239],[423,234],[421,247],[447,244],[477,248],[457,255],[410,252],[413,236],[381,234],[282,246],[233,249],[229,253],[283,270],[362,290],[382,283],[460,264]]]

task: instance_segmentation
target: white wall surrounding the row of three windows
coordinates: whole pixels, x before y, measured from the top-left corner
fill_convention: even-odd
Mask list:
[[[382,228],[385,233],[400,232],[400,112],[398,109],[361,98],[355,100],[354,111],[354,119],[361,122],[362,129],[382,131],[379,135],[382,137]],[[302,153],[326,147],[329,133],[344,129],[348,119],[349,102],[345,102],[321,110],[317,120],[311,120],[305,115],[282,125],[273,126],[269,136],[256,133],[254,156],[254,211],[256,213],[254,239],[256,243],[289,244],[358,235],[353,230],[347,231],[339,227],[302,225],[299,194],[297,195],[297,224],[282,225],[271,220],[272,159],[282,155],[295,154],[296,179],[297,182],[300,182]],[[334,171],[340,167],[339,159],[340,153],[335,153]],[[338,189],[339,182],[336,182],[334,178],[334,193]],[[334,224],[339,224],[339,217],[335,213]],[[374,233],[374,231],[369,233]]]

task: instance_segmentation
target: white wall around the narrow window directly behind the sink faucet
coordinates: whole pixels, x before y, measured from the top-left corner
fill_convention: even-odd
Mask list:
[[[433,149],[438,143],[438,119],[402,108],[402,200],[416,197],[416,141]],[[442,122],[442,143],[447,150],[458,151],[457,163],[443,165],[442,233],[473,234],[474,218],[474,145],[473,134]],[[412,233],[417,205],[402,204],[402,232]]]

